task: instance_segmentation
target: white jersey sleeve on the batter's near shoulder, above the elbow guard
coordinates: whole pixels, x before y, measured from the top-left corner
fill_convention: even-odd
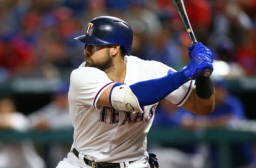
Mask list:
[[[71,72],[68,98],[76,105],[90,105],[97,108],[103,91],[114,83],[107,74],[97,68],[82,67]]]

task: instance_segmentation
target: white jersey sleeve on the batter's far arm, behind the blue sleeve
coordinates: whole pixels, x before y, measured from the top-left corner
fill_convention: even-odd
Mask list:
[[[170,66],[167,66],[161,62],[157,61],[151,61],[151,66],[154,67],[153,73],[159,78],[164,75],[167,75],[168,73],[176,72],[176,70],[172,69]],[[172,91],[168,96],[165,98],[169,100],[171,103],[173,103],[176,106],[182,106],[183,103],[186,102],[189,95],[191,94],[191,91],[195,87],[195,81],[190,80],[186,83],[184,83],[182,86],[180,86],[178,89]]]

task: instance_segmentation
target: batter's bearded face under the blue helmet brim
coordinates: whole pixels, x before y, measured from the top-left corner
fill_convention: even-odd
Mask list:
[[[84,50],[85,66],[107,70],[113,65],[113,59],[109,53],[108,46],[86,45]]]

